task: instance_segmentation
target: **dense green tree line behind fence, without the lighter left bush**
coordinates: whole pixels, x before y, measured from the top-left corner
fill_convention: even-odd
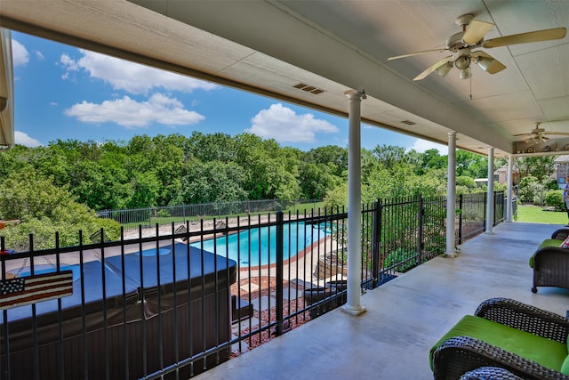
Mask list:
[[[486,163],[459,150],[457,177],[485,177]],[[445,173],[436,173],[445,170],[446,156],[437,150],[418,153],[386,145],[362,150],[363,185],[378,195],[389,188],[385,176],[397,174],[400,184],[425,181],[426,174],[445,180]],[[251,133],[194,132],[139,135],[127,142],[57,140],[36,148],[19,145],[0,155],[0,183],[30,171],[52,178],[55,186],[68,186],[77,202],[93,210],[325,198],[347,182],[348,149],[329,145],[301,151]]]

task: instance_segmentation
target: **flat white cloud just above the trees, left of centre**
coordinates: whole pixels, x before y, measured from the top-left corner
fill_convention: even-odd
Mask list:
[[[66,109],[65,114],[84,123],[116,123],[128,128],[162,125],[190,125],[204,120],[195,111],[184,109],[181,101],[155,93],[148,101],[134,101],[128,96],[100,104],[83,101]]]

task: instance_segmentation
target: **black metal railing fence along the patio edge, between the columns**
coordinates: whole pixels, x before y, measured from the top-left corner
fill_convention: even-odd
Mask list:
[[[460,231],[484,222],[483,203],[459,198]],[[446,206],[421,197],[364,205],[362,288],[443,253]],[[42,251],[30,236],[29,252],[0,255],[10,294],[0,308],[2,378],[188,378],[229,360],[346,302],[347,218],[339,209],[249,214],[172,222],[165,235],[156,224],[148,238],[140,226],[136,239],[123,230],[95,244],[79,232],[79,246]],[[26,281],[69,271],[73,295],[12,308]]]

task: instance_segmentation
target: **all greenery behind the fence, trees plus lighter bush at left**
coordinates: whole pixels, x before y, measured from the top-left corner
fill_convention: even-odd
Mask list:
[[[497,160],[496,167],[504,162]],[[487,158],[457,150],[456,163],[457,191],[480,190],[474,179],[487,176]],[[444,195],[446,166],[447,156],[438,150],[363,149],[362,200]],[[57,140],[0,154],[0,219],[21,221],[0,235],[18,230],[49,237],[80,228],[91,234],[104,227],[112,236],[116,223],[94,211],[273,198],[346,206],[347,194],[347,147],[302,151],[252,133]]]

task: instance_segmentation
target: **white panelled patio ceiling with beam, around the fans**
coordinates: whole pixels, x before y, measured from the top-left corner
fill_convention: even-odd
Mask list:
[[[465,13],[495,25],[486,39],[569,24],[565,0],[2,0],[0,25],[337,115],[346,91],[365,90],[365,123],[444,144],[456,131],[459,148],[482,154],[525,151],[514,134],[535,122],[569,132],[566,36],[485,50],[508,69],[476,67],[471,80],[453,69],[413,82],[443,53],[387,61],[441,47]],[[561,153],[568,143],[533,148]]]

